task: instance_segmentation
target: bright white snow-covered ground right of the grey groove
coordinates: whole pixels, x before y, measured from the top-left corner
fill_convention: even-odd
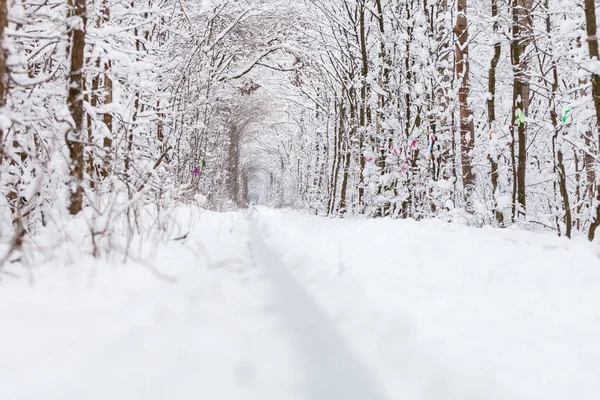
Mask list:
[[[600,393],[600,260],[588,243],[266,209],[260,220],[391,398]]]

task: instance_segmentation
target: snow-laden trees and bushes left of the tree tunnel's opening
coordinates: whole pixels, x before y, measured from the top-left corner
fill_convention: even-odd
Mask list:
[[[245,77],[298,69],[271,5],[1,0],[0,233],[71,215],[99,256],[142,232],[143,207],[224,203]]]

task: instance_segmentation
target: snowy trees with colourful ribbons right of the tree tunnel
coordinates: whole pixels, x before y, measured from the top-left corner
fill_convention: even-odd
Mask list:
[[[579,10],[553,0],[312,2],[321,23],[308,51],[325,73],[304,91],[335,96],[319,115],[335,134],[312,146],[329,165],[312,192],[328,196],[312,206],[592,239],[595,4]],[[322,138],[322,122],[311,123],[312,140]]]

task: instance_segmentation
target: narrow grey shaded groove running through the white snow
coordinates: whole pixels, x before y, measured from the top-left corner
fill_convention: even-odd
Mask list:
[[[275,287],[278,312],[295,339],[302,360],[303,398],[311,400],[384,400],[370,371],[353,355],[333,322],[265,243],[257,214],[249,217],[250,248]]]

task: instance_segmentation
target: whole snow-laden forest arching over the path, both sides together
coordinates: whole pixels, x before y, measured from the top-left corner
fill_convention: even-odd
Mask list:
[[[126,255],[260,203],[593,240],[596,30],[594,0],[0,0],[0,238]]]

